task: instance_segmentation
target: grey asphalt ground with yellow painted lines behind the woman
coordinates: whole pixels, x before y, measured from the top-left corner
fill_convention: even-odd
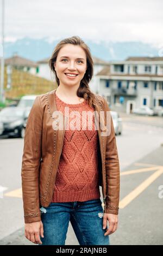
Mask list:
[[[162,245],[163,198],[159,196],[163,185],[162,119],[139,116],[133,118],[126,114],[121,114],[121,117],[123,132],[116,137],[121,166],[120,214],[118,230],[110,235],[110,243]],[[3,198],[0,199],[0,244],[31,245],[23,234],[23,139],[1,138],[0,150],[0,185],[3,191]],[[70,224],[66,245],[78,244]]]

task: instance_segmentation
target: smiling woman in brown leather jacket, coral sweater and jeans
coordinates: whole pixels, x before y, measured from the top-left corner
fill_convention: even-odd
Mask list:
[[[78,36],[64,39],[49,66],[58,87],[36,97],[24,137],[25,236],[65,245],[71,222],[80,245],[109,245],[118,222],[120,165],[108,104],[89,88],[89,47]]]

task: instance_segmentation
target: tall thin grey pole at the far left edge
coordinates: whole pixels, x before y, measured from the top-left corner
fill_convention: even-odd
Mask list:
[[[0,101],[4,103],[4,0],[2,0],[2,54],[1,54],[1,90]]]

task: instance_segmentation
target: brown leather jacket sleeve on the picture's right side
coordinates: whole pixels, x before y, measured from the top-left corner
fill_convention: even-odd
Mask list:
[[[110,111],[104,98],[104,111]],[[106,209],[108,214],[118,214],[120,199],[120,163],[116,145],[114,125],[110,114],[110,135],[106,137],[105,173],[106,173]]]

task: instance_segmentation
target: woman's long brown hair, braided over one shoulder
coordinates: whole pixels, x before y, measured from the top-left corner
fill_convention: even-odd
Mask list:
[[[83,97],[89,106],[95,108],[97,106],[95,94],[93,94],[89,87],[89,82],[92,79],[93,76],[93,59],[91,57],[90,48],[85,44],[85,42],[79,37],[79,36],[72,36],[70,38],[65,38],[61,40],[57,46],[55,46],[51,58],[48,60],[49,68],[51,69],[51,72],[55,75],[55,80],[57,82],[57,85],[59,86],[59,78],[57,76],[57,73],[54,69],[54,63],[57,60],[58,53],[60,49],[65,46],[66,44],[72,44],[72,45],[78,45],[83,48],[83,50],[86,53],[86,64],[87,69],[84,74],[83,79],[80,81],[80,86],[77,90],[77,96]]]

